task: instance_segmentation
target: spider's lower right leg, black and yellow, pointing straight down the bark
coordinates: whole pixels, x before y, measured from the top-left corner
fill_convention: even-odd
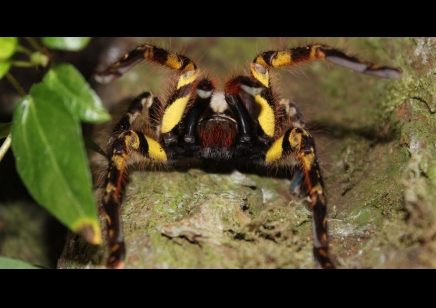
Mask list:
[[[294,160],[304,180],[313,213],[314,257],[321,268],[334,268],[328,254],[327,198],[316,157],[313,137],[302,128],[292,128],[278,138],[265,155],[265,162],[293,167]]]

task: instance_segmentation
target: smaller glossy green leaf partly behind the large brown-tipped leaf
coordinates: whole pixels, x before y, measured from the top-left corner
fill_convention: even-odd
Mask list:
[[[101,123],[110,119],[98,95],[74,66],[55,66],[48,71],[43,82],[64,98],[64,103],[81,121]]]

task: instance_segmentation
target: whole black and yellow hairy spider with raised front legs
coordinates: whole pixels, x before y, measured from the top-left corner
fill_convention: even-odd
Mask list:
[[[108,83],[146,60],[178,71],[166,101],[151,92],[133,100],[110,135],[103,207],[106,211],[108,268],[123,268],[126,254],[120,208],[126,189],[127,163],[132,152],[148,162],[169,164],[185,158],[244,161],[285,168],[293,174],[290,192],[308,197],[313,217],[313,253],[320,268],[334,268],[328,252],[327,198],[315,141],[305,129],[297,106],[280,99],[271,84],[270,69],[325,59],[361,73],[398,78],[401,71],[378,66],[325,46],[308,45],[266,51],[251,63],[249,75],[239,75],[215,89],[188,57],[144,44],[95,75]],[[146,114],[146,125],[134,129]]]

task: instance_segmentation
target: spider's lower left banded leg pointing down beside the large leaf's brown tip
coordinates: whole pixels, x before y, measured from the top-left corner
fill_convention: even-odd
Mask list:
[[[108,142],[109,168],[106,175],[103,208],[106,212],[109,258],[108,268],[123,268],[126,249],[120,222],[121,203],[125,194],[127,163],[132,151],[144,156],[146,161],[167,161],[161,145],[142,132],[132,130],[132,123],[144,107],[151,106],[153,97],[146,92],[130,105],[127,114],[119,121]]]

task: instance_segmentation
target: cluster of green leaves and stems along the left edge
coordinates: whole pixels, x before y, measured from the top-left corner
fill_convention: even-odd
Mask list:
[[[42,38],[42,41],[48,47],[69,51],[83,49],[89,38]],[[28,59],[17,60],[16,53]],[[12,139],[17,171],[34,200],[69,229],[90,243],[100,244],[99,218],[81,122],[101,123],[110,116],[74,66],[55,65],[50,58],[46,46],[33,38],[0,39],[0,63],[8,67],[1,71],[0,78],[8,79],[22,97],[12,123],[1,126],[2,137],[6,137],[0,148],[1,158]],[[13,66],[35,69],[36,80],[41,79],[30,87],[29,94],[9,73]]]

